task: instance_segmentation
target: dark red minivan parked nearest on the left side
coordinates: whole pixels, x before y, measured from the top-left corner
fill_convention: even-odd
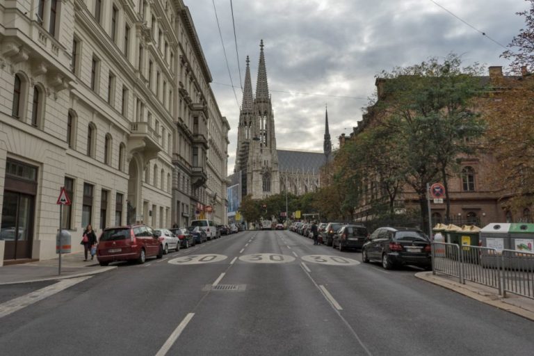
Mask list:
[[[129,260],[144,264],[147,257],[163,257],[163,245],[147,225],[106,227],[98,240],[97,259],[100,266]]]

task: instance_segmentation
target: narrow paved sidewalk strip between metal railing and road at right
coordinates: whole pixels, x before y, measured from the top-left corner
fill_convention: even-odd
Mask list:
[[[437,284],[438,286],[478,300],[479,302],[534,321],[534,299],[516,296],[512,293],[506,293],[506,298],[503,298],[499,296],[497,289],[467,281],[465,284],[461,284],[457,277],[448,275],[432,275],[432,272],[419,272],[415,276],[421,280]]]

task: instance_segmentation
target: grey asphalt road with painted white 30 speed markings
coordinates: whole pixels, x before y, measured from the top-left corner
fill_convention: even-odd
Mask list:
[[[533,355],[531,321],[360,262],[292,232],[224,236],[0,317],[0,354]]]

